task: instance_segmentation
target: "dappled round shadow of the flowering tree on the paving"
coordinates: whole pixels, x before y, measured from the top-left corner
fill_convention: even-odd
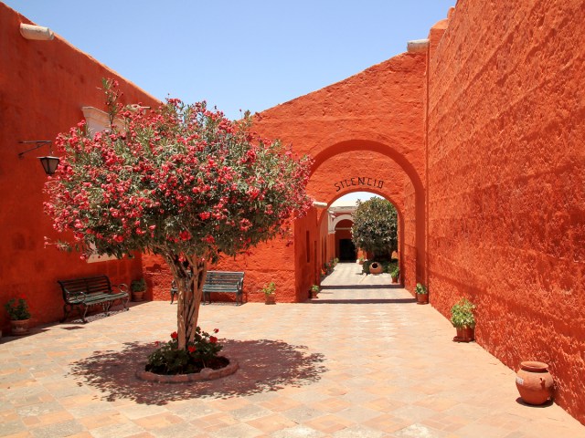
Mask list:
[[[216,381],[156,383],[134,375],[154,344],[126,343],[121,351],[96,351],[90,358],[71,365],[69,374],[78,385],[100,390],[102,399],[130,399],[141,404],[163,405],[168,401],[194,398],[223,398],[278,391],[286,386],[304,386],[319,381],[327,369],[324,355],[309,353],[304,346],[278,340],[226,340],[225,356],[239,361],[239,370]],[[144,366],[144,365],[143,365]]]

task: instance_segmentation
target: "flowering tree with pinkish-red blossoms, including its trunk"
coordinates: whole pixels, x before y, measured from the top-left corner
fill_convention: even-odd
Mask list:
[[[46,212],[59,232],[72,232],[82,257],[162,255],[178,289],[185,349],[196,335],[207,263],[248,251],[302,215],[310,160],[254,134],[249,114],[231,121],[178,99],[148,112],[124,109],[117,84],[103,85],[110,129],[92,138],[80,122],[58,135],[64,156],[46,185]]]

